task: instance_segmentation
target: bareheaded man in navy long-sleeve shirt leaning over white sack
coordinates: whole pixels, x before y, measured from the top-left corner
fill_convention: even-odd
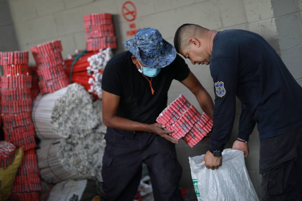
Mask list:
[[[207,168],[222,164],[230,140],[236,96],[241,102],[238,138],[233,149],[249,154],[248,140],[257,123],[263,200],[301,200],[302,88],[276,51],[246,30],[214,31],[184,24],[174,46],[192,64],[210,64],[214,81],[213,134],[204,156]]]

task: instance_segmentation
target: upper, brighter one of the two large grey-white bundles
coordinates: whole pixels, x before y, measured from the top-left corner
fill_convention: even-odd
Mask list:
[[[40,139],[85,137],[102,123],[93,107],[92,96],[77,83],[43,97],[39,95],[33,108],[34,125]]]

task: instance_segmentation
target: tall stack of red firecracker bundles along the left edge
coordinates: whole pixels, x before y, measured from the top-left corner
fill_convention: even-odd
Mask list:
[[[40,174],[34,148],[32,111],[32,72],[28,66],[28,52],[0,53],[3,65],[1,78],[1,105],[5,141],[22,147],[24,156],[17,171],[12,200],[39,200]],[[27,199],[33,198],[33,199]]]

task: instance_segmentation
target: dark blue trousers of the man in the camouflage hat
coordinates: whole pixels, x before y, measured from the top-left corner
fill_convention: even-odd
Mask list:
[[[155,133],[109,127],[105,139],[105,200],[132,201],[140,183],[142,163],[148,167],[155,201],[183,200],[178,188],[182,167],[173,143]]]

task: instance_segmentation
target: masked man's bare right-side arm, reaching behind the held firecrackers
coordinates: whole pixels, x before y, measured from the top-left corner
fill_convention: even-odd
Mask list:
[[[213,118],[214,104],[209,93],[204,89],[195,75],[190,71],[187,78],[181,81],[195,95],[201,109]]]

